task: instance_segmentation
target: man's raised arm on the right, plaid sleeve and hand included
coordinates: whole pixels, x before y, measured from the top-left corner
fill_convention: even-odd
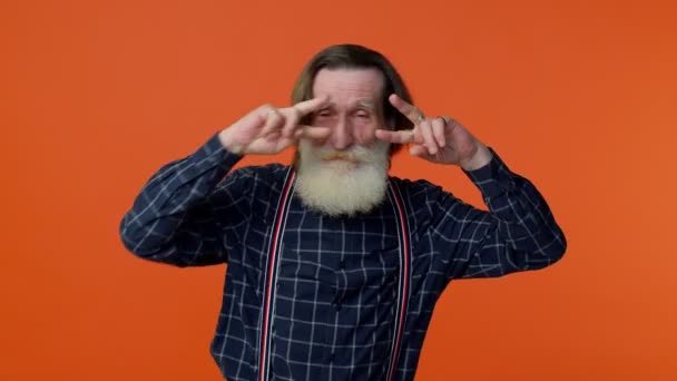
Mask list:
[[[489,212],[441,189],[425,203],[432,223],[430,245],[442,253],[442,271],[453,277],[499,276],[544,267],[559,260],[566,240],[536,187],[450,117],[429,118],[396,95],[391,104],[414,125],[410,130],[377,130],[376,137],[411,144],[410,154],[461,167],[482,192]]]

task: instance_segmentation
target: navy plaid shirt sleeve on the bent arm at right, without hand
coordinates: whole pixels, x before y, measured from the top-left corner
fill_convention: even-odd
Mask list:
[[[444,193],[433,205],[433,245],[447,253],[449,279],[501,276],[557,262],[567,242],[548,204],[526,178],[496,153],[484,167],[468,172],[489,212]]]

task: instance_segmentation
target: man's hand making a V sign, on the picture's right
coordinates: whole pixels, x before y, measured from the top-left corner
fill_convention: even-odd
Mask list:
[[[450,117],[428,118],[421,110],[398,95],[389,101],[414,124],[409,130],[376,130],[376,138],[395,144],[411,144],[409,153],[439,164],[459,165],[465,170],[483,167],[491,152],[461,124]]]

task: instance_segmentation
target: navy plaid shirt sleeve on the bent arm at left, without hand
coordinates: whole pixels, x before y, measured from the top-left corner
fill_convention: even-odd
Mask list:
[[[229,192],[215,190],[239,158],[215,135],[193,155],[163,166],[122,217],[125,246],[143,258],[177,266],[227,262],[216,214],[229,214],[237,223],[246,212]]]

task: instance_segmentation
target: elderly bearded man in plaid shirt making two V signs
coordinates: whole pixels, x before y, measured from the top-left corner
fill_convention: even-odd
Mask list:
[[[565,236],[533,185],[452,118],[412,106],[381,53],[324,49],[292,105],[261,106],[160,168],[120,227],[144,258],[228,264],[212,342],[226,379],[412,380],[451,280],[562,256]],[[390,177],[402,144],[460,166],[489,212]],[[293,166],[230,170],[244,155],[292,145]]]

